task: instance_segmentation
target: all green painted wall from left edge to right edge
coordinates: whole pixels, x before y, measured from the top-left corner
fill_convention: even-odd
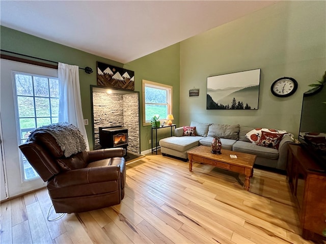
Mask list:
[[[90,121],[90,85],[96,85],[96,61],[100,61],[135,72],[141,114],[142,80],[146,79],[173,86],[173,122],[178,126],[192,120],[208,121],[282,129],[297,135],[303,93],[326,69],[325,11],[324,1],[281,1],[128,64],[4,26],[0,29],[1,48],[91,67],[94,72],[90,75],[79,71],[83,114]],[[208,76],[252,69],[261,69],[258,110],[206,110]],[[288,98],[274,97],[270,85],[284,76],[297,80],[297,92]],[[200,89],[199,97],[188,97],[193,87]],[[93,148],[91,125],[86,130]],[[141,151],[150,148],[150,139],[150,126],[143,127],[141,116]]]

